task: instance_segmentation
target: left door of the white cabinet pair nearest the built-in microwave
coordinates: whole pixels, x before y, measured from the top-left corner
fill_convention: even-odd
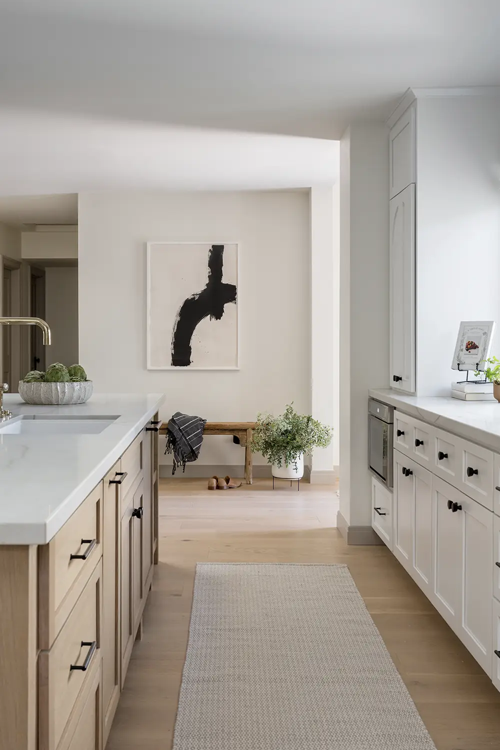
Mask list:
[[[413,475],[406,476],[411,461],[400,452],[394,451],[394,555],[403,568],[412,568],[412,505]]]

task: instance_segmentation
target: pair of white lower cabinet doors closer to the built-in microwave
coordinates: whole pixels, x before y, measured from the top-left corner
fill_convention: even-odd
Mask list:
[[[432,581],[432,474],[394,452],[394,555],[418,586]]]

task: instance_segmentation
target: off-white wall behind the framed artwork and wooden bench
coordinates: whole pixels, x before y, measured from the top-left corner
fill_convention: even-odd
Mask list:
[[[146,369],[148,240],[241,243],[239,371]],[[99,392],[166,392],[163,419],[180,410],[252,420],[291,401],[309,412],[308,192],[80,194],[79,359]],[[242,449],[224,437],[207,438],[199,458],[242,460]]]

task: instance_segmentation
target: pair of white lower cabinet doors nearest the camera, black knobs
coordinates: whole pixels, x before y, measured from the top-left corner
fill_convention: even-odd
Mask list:
[[[492,537],[493,514],[434,476],[431,601],[488,674]]]

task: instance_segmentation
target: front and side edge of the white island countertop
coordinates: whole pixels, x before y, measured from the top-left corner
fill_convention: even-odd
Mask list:
[[[85,498],[91,493],[99,481],[111,469],[114,463],[123,455],[124,451],[130,446],[130,443],[136,438],[145,424],[157,413],[161,404],[165,400],[165,395],[161,395],[155,402],[154,407],[149,407],[138,421],[130,427],[121,440],[115,444],[114,448],[94,467],[84,481],[75,487],[59,505],[57,510],[49,516],[44,523],[2,523],[0,522],[0,545],[9,546],[30,546],[38,544],[48,544],[55,534],[64,526],[73,513],[79,508]],[[15,538],[16,541],[12,541]]]

